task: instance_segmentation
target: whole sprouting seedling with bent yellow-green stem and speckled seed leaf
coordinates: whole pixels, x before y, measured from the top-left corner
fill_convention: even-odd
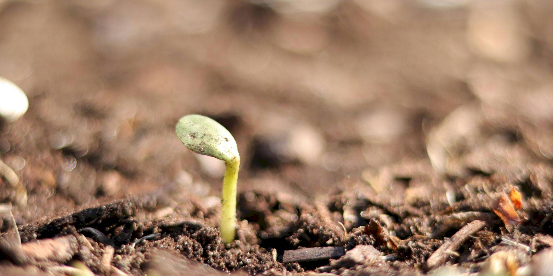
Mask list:
[[[217,121],[197,114],[180,118],[175,131],[182,144],[190,150],[225,161],[221,237],[226,243],[233,241],[236,232],[236,184],[240,167],[240,156],[234,137]]]

